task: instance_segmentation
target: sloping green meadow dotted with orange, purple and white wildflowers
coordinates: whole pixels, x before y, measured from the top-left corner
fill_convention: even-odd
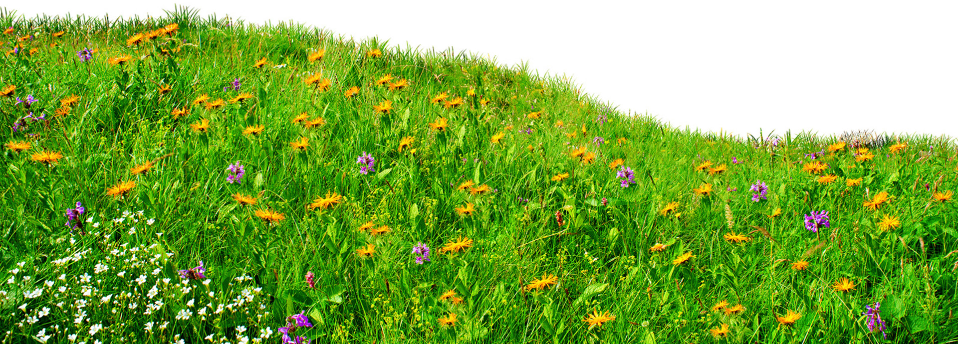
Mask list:
[[[0,29],[0,343],[958,340],[946,137],[186,8]]]

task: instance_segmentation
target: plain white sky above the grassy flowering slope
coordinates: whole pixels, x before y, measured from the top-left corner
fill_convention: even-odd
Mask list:
[[[958,137],[958,2],[20,1],[33,17],[164,16],[174,4],[246,23],[528,63],[624,113],[747,138],[875,130]],[[112,20],[112,19],[111,19]]]

